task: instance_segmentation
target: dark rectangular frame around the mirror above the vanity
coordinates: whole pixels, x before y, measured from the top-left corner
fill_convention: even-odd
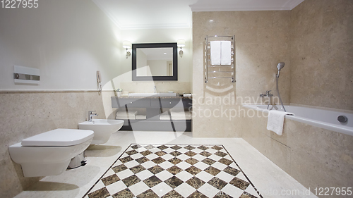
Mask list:
[[[138,48],[173,48],[173,75],[172,76],[136,76],[136,49]],[[178,47],[177,43],[145,43],[132,44],[132,80],[133,81],[172,81],[178,80]],[[151,80],[152,79],[152,80]]]

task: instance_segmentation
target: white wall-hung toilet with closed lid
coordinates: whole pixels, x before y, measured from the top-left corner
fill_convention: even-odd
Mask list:
[[[22,140],[8,150],[25,177],[59,175],[73,157],[88,148],[93,136],[92,130],[56,129]]]

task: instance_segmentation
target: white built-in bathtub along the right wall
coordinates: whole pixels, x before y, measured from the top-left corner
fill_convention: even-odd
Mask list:
[[[269,110],[284,111],[280,105],[270,105],[269,110],[267,109],[268,105],[243,104],[243,106],[263,112],[268,112]],[[294,116],[286,116],[285,119],[295,120],[308,125],[353,136],[353,113],[293,105],[285,105],[285,109],[287,112],[294,113]],[[338,116],[346,116],[348,118],[347,123],[340,123],[337,120]]]

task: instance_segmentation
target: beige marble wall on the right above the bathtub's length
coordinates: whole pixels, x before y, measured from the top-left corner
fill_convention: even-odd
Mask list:
[[[353,2],[306,0],[291,13],[294,104],[353,109]]]

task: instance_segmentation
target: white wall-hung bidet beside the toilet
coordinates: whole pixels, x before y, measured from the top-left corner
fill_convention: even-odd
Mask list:
[[[124,120],[92,119],[92,122],[78,124],[78,129],[92,130],[95,136],[90,144],[104,144],[108,142],[110,135],[118,131],[124,125]]]

